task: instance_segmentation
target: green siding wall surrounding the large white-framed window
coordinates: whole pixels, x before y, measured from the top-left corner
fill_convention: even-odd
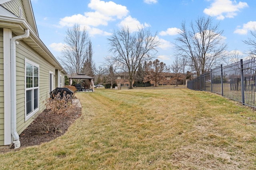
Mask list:
[[[30,125],[33,117],[25,121],[25,58],[39,64],[39,111],[46,107],[43,104],[49,97],[49,71],[54,72],[55,67],[41,57],[23,41],[16,46],[16,89],[17,89],[17,132],[18,134]]]

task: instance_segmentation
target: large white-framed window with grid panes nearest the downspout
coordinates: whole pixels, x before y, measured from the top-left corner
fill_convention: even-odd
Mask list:
[[[39,65],[25,59],[25,121],[39,110]]]

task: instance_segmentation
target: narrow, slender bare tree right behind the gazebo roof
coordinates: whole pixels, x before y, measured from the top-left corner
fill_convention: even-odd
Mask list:
[[[88,47],[86,49],[86,60],[82,67],[82,73],[86,74],[87,76],[94,76],[94,72],[96,69],[95,63],[92,59],[92,42],[89,41]]]

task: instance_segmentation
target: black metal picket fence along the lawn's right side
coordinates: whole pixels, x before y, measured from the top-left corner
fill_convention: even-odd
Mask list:
[[[220,65],[188,81],[191,90],[220,94],[256,109],[256,59]]]

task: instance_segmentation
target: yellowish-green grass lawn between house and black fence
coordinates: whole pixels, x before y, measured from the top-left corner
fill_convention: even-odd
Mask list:
[[[231,100],[183,88],[76,96],[82,116],[65,135],[0,154],[0,169],[256,168],[256,113]]]

